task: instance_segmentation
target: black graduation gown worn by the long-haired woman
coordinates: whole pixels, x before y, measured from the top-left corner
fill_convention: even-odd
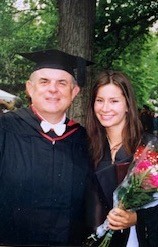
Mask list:
[[[147,143],[155,139],[153,135],[144,134],[142,136],[140,145],[147,145]],[[107,142],[105,150],[105,158],[100,162],[96,169],[96,188],[99,194],[97,199],[97,209],[100,210],[96,214],[97,225],[103,223],[103,219],[113,207],[113,191],[118,183],[123,179],[128,169],[128,164],[133,160],[132,156],[126,154],[125,150],[121,148],[115,157],[115,164],[111,162],[110,148]],[[126,164],[125,166],[123,164]],[[121,168],[121,169],[119,169]],[[122,170],[123,168],[123,170]],[[122,174],[120,176],[120,171]],[[157,247],[158,246],[158,205],[148,209],[140,209],[137,211],[136,224],[137,238],[139,247]],[[115,231],[109,247],[125,247],[129,236],[129,229]]]

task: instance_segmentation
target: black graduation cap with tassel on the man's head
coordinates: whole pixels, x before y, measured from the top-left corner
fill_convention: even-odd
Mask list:
[[[31,53],[19,53],[19,55],[35,62],[34,70],[42,68],[53,68],[67,71],[75,77],[75,69],[77,69],[77,83],[84,86],[86,81],[86,66],[93,62],[85,60],[82,57],[70,55],[59,50],[43,50]]]

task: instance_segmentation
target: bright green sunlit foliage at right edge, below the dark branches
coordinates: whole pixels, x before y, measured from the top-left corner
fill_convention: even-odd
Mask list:
[[[124,71],[130,77],[140,108],[148,104],[154,109],[156,105],[149,99],[158,102],[157,46],[157,36],[146,35],[144,40],[132,42],[112,64],[113,68]]]

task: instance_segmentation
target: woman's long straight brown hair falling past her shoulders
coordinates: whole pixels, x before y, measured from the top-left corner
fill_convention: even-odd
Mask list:
[[[136,100],[132,85],[127,76],[120,71],[105,70],[102,71],[92,89],[89,102],[86,128],[90,142],[90,152],[95,166],[98,165],[104,156],[106,143],[106,129],[98,121],[94,113],[94,103],[98,89],[107,84],[118,86],[126,99],[128,108],[126,124],[122,131],[123,146],[128,154],[134,154],[141,138],[141,122],[138,115]]]

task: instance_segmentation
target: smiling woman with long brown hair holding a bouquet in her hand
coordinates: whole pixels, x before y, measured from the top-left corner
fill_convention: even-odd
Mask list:
[[[99,74],[88,109],[87,132],[99,203],[104,217],[108,215],[109,227],[115,230],[110,247],[123,247],[127,245],[129,227],[137,224],[137,213],[119,208],[110,211],[112,196],[126,175],[141,140],[141,123],[132,86],[123,73],[109,70]],[[97,204],[97,211],[98,207]],[[103,213],[99,213],[97,225],[102,222]]]

